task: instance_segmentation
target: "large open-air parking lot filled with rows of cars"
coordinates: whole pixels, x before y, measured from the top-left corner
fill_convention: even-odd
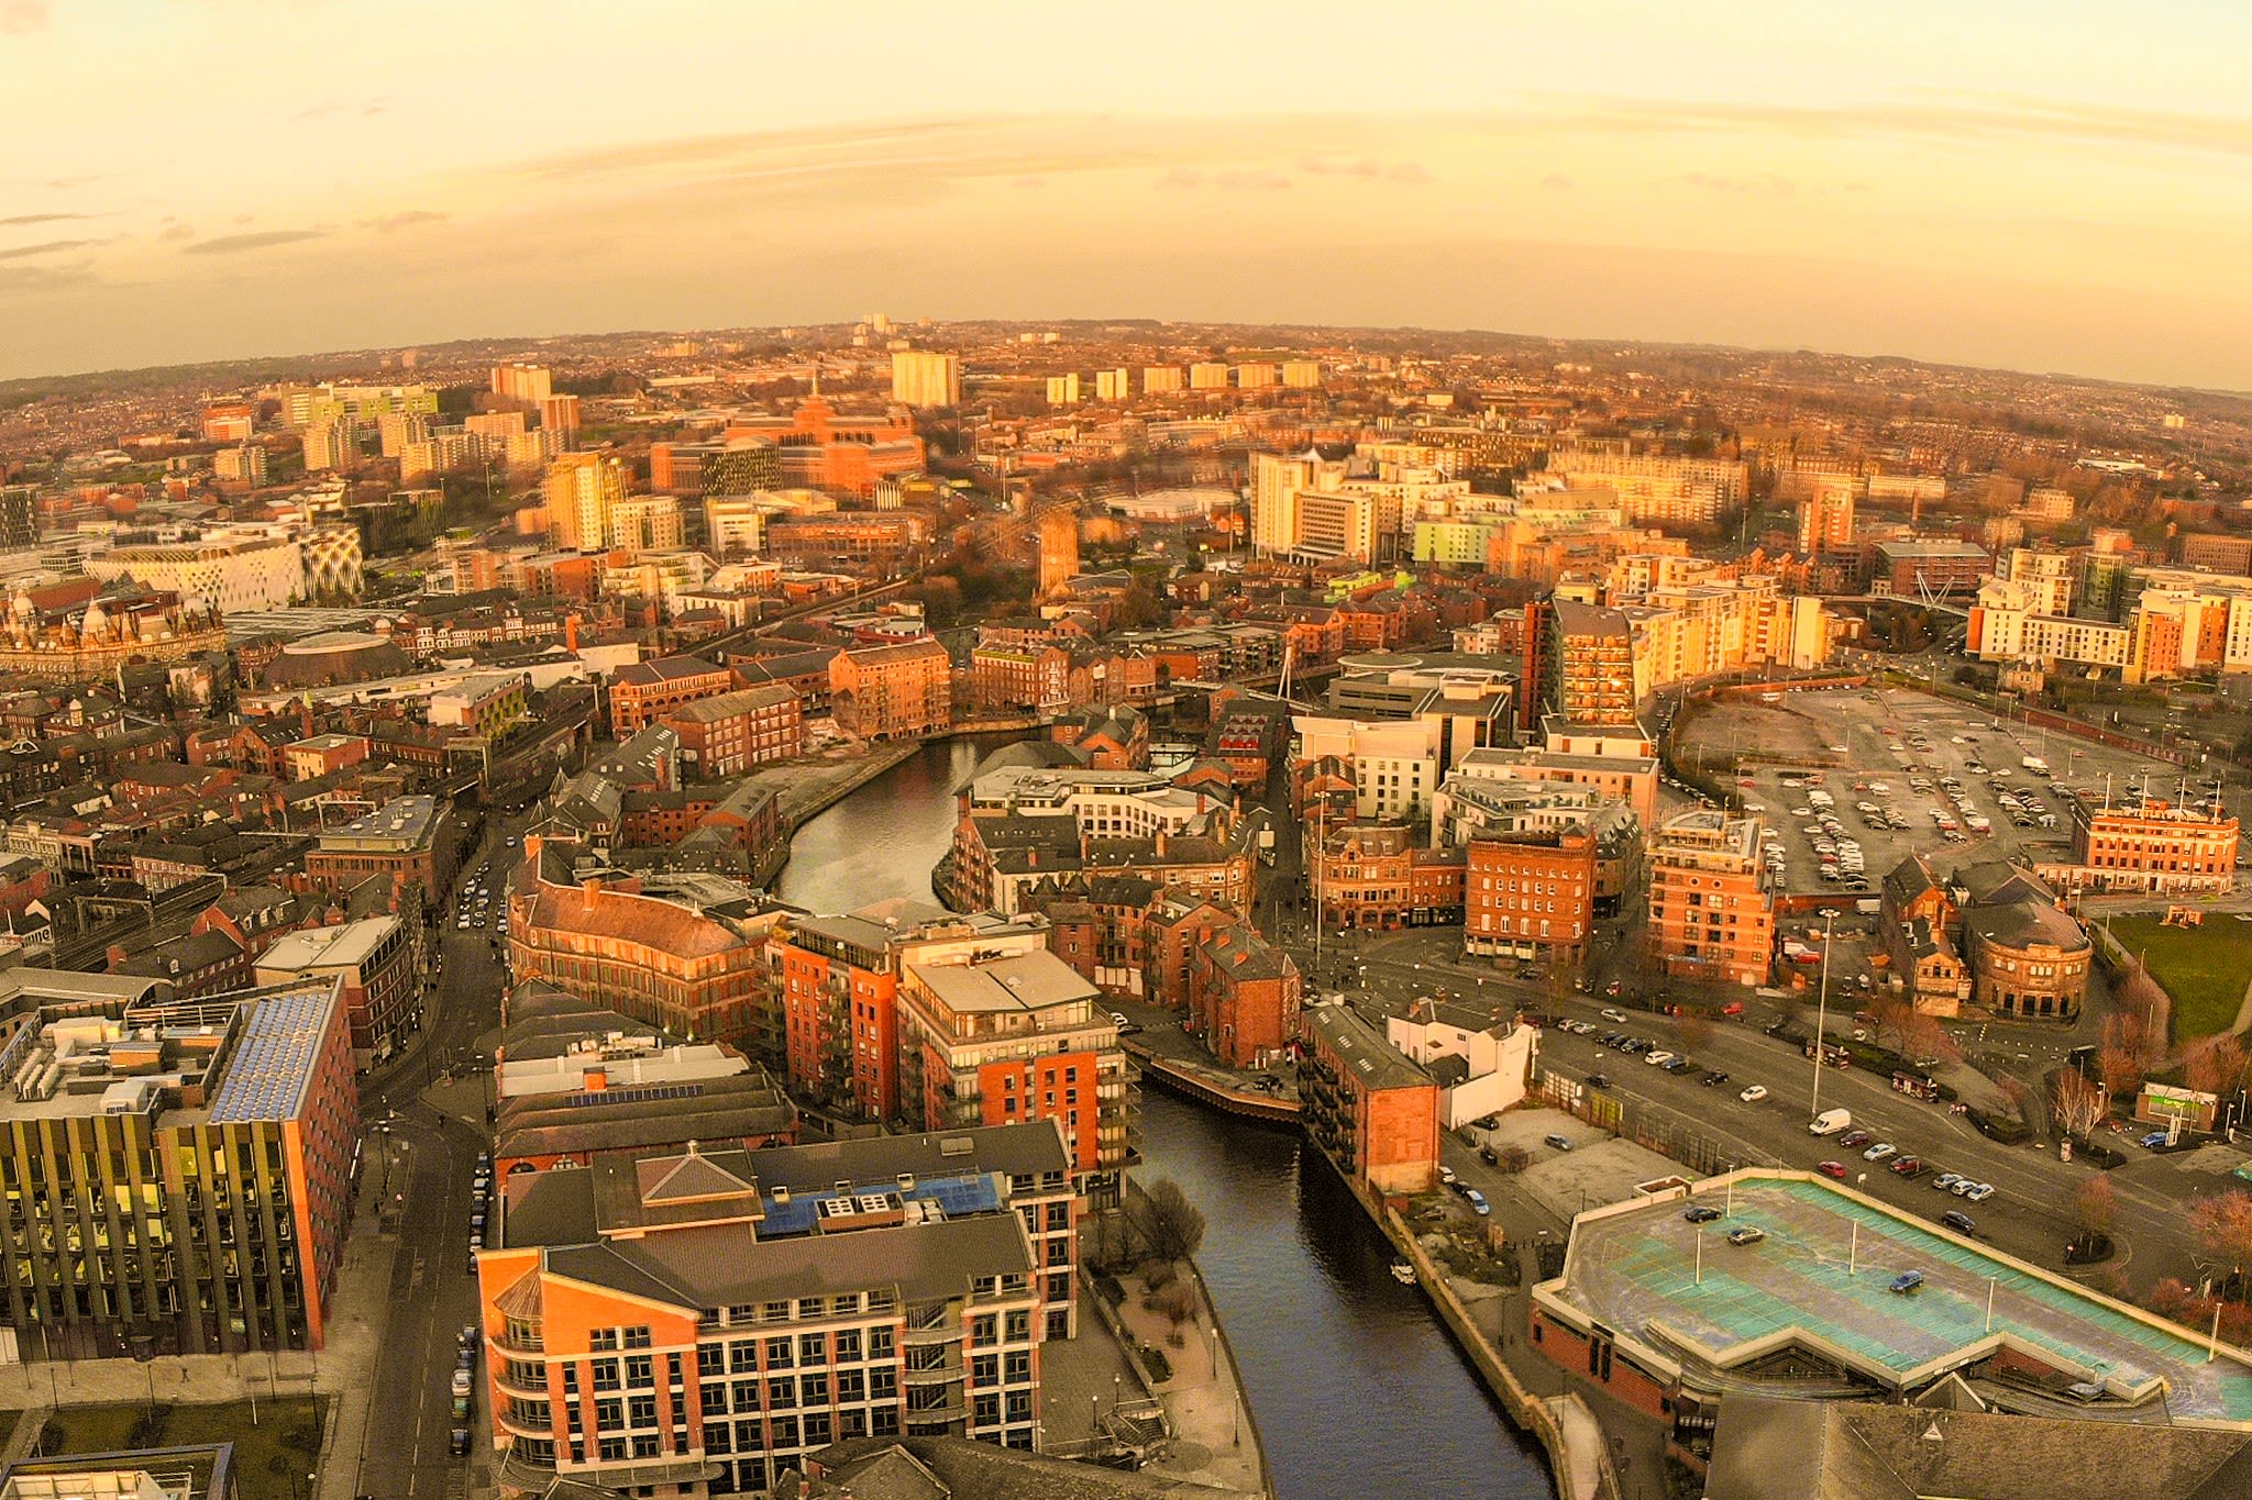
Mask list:
[[[2146,774],[2153,792],[2182,776],[2133,751],[2043,735],[1903,688],[1777,697],[1826,735],[1824,760],[1844,762],[1748,767],[1736,783],[1763,823],[1768,870],[1786,895],[1874,897],[1914,852],[1939,870],[2054,859],[2070,846],[2072,794],[2101,801],[2106,776],[2115,792]]]

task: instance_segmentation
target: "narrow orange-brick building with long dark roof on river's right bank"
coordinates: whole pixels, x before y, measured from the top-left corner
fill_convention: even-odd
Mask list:
[[[1297,1091],[1306,1133],[1344,1181],[1378,1192],[1439,1183],[1439,1084],[1351,1005],[1308,1005]]]

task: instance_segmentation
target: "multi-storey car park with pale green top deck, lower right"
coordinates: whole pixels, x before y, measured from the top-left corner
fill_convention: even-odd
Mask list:
[[[1806,1172],[1579,1214],[1527,1338],[1675,1421],[1730,1392],[1898,1401],[1959,1376],[1993,1410],[2252,1430],[2245,1349]]]

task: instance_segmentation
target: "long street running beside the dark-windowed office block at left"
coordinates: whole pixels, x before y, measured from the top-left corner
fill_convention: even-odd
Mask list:
[[[484,846],[464,859],[462,879],[511,832],[513,823],[493,819]],[[498,893],[493,904],[500,906]],[[455,1426],[448,1383],[455,1334],[477,1320],[468,1275],[468,1187],[486,1142],[426,1104],[421,1091],[448,1064],[471,1064],[477,1037],[500,1025],[507,974],[493,954],[493,933],[486,927],[459,931],[450,902],[439,931],[444,983],[421,1050],[381,1079],[363,1079],[360,1088],[360,1118],[372,1131],[369,1163],[385,1174],[383,1230],[399,1237],[392,1313],[376,1361],[367,1442],[358,1455],[356,1493],[376,1500],[459,1500],[468,1489],[471,1460],[448,1453]],[[477,1388],[484,1388],[482,1374]]]

